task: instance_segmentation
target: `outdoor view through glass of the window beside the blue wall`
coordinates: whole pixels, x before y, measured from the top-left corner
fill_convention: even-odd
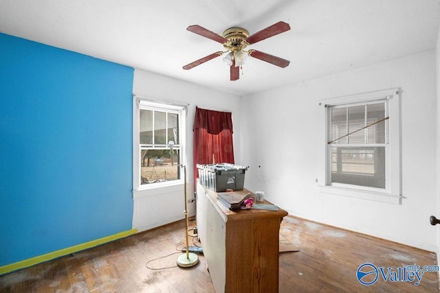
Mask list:
[[[140,183],[144,185],[178,180],[179,162],[179,115],[141,109]]]

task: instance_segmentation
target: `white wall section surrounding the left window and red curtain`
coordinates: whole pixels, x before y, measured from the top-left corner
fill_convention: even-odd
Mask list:
[[[234,154],[240,152],[240,97],[230,93],[214,91],[190,82],[169,78],[157,73],[135,69],[133,93],[142,97],[151,97],[155,101],[175,101],[189,104],[186,119],[186,155],[187,155],[187,194],[194,194],[192,185],[192,124],[195,106],[212,110],[232,112],[234,124]],[[237,156],[235,155],[237,158]],[[184,218],[184,188],[164,187],[135,193],[133,228],[144,231],[149,228],[168,224]],[[195,202],[188,204],[189,215],[195,214]]]

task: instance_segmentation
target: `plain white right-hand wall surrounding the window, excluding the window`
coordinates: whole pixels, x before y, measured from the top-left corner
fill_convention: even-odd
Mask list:
[[[243,97],[240,165],[245,187],[292,215],[436,251],[435,52]],[[292,65],[291,65],[292,66]],[[325,160],[320,99],[401,87],[401,204],[320,194]]]

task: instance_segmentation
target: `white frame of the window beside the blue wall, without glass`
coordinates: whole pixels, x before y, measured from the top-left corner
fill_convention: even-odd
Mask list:
[[[177,180],[170,180],[159,183],[144,184],[141,183],[141,143],[140,143],[140,110],[155,110],[166,113],[177,113],[179,115],[179,145],[175,147],[179,150],[179,165],[186,163],[186,105],[168,104],[166,102],[155,102],[151,99],[133,96],[133,191],[141,191],[146,189],[157,189],[161,187],[175,186],[184,184],[184,176],[180,176]],[[167,142],[168,143],[168,142]],[[157,150],[163,149],[162,147]]]

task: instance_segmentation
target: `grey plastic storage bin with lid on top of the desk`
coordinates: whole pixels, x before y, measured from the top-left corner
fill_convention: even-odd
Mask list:
[[[245,184],[245,171],[248,167],[228,163],[199,165],[199,178],[201,185],[216,192],[226,189],[241,190]]]

